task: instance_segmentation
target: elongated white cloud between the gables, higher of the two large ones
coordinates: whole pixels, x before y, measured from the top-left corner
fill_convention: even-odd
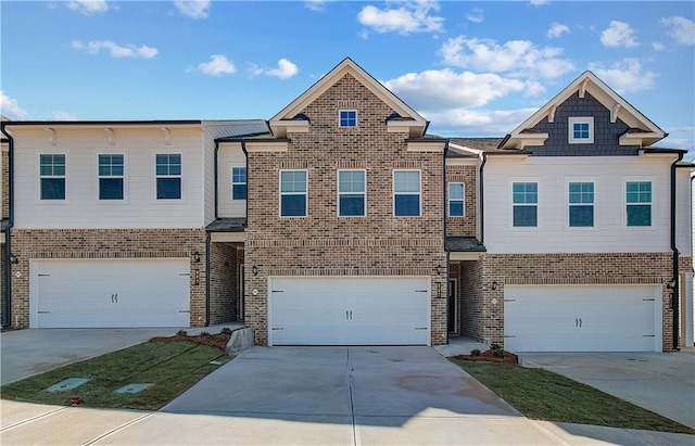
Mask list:
[[[510,73],[513,76],[556,78],[574,69],[568,60],[559,59],[559,48],[538,48],[528,40],[510,40],[498,44],[491,39],[448,39],[442,44],[444,63],[481,72]]]

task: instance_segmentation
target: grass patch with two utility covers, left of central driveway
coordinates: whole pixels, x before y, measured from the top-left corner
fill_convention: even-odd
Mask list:
[[[217,348],[193,342],[146,342],[76,362],[0,387],[2,398],[63,405],[79,398],[89,407],[155,410],[231,359]],[[90,378],[66,392],[46,388],[66,378]],[[115,395],[126,384],[154,383],[137,395]]]

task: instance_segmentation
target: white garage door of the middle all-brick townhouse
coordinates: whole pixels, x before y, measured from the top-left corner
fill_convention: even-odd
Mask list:
[[[269,278],[270,345],[429,345],[430,279]]]

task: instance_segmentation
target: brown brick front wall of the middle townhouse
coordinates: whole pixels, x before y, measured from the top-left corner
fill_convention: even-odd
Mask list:
[[[339,128],[339,110],[357,110],[358,126]],[[441,152],[407,152],[407,133],[387,132],[394,111],[349,74],[301,113],[309,130],[291,133],[287,152],[249,154],[245,321],[256,342],[268,342],[269,276],[430,276],[431,342],[445,343],[446,278],[434,270],[446,265]],[[337,215],[338,169],[345,168],[367,171],[364,217]],[[306,217],[279,218],[280,169],[307,170]],[[420,217],[393,216],[393,169],[420,169]]]

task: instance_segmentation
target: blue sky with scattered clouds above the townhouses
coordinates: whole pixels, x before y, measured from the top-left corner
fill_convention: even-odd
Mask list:
[[[695,155],[695,3],[7,1],[12,119],[269,119],[345,56],[442,136],[504,136],[585,69]]]

